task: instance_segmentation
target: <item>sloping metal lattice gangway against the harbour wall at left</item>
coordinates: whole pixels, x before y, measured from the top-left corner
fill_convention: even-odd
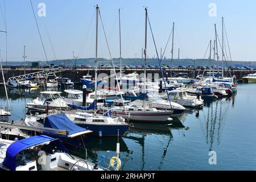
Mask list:
[[[8,81],[22,81],[26,80],[27,78],[35,78],[36,76],[48,76],[48,75],[53,75],[55,73],[63,72],[64,68],[59,67],[59,68],[54,68],[54,69],[46,69],[44,71],[40,72],[34,72],[34,73],[28,73],[26,75],[20,75],[20,76],[15,76],[15,77],[10,77]]]

